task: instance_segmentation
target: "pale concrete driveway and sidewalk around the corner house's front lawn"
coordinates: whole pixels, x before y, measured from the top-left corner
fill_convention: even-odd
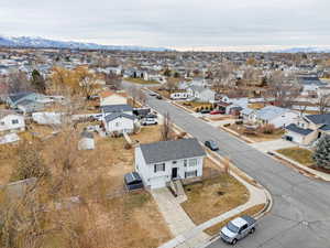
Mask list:
[[[213,159],[212,157],[209,158],[220,165],[218,160]],[[158,192],[152,192],[163,216],[165,217],[166,223],[169,225],[169,228],[173,231],[173,235],[176,236],[174,239],[165,242],[160,248],[194,248],[202,246],[202,244],[206,244],[210,239],[210,236],[204,233],[205,229],[232,216],[239,215],[240,213],[255,205],[270,203],[271,195],[266,190],[251,185],[233,172],[230,174],[248,188],[250,193],[249,201],[245,204],[209,219],[208,222],[198,226],[196,226],[187,216],[179,203],[175,200],[170,192],[168,192],[167,188],[157,190]],[[158,194],[160,191],[163,191],[161,195]],[[166,191],[168,193],[165,193]]]

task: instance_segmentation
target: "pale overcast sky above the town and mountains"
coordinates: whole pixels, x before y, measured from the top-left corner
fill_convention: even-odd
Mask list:
[[[0,0],[0,34],[213,50],[330,45],[330,0]]]

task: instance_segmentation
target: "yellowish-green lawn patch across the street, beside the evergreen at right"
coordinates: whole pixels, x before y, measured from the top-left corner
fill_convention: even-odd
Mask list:
[[[278,153],[301,163],[302,165],[310,166],[314,164],[312,161],[312,151],[304,148],[287,148],[277,150]]]

